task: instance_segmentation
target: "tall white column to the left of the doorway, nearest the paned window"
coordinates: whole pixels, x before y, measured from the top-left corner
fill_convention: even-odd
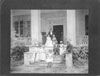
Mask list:
[[[31,10],[31,37],[32,41],[41,41],[40,10]]]

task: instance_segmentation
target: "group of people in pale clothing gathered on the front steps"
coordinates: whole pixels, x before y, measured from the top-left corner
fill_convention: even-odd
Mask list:
[[[46,42],[42,47],[35,48],[37,50],[37,57],[33,55],[32,60],[44,60],[47,62],[47,67],[51,67],[54,61],[54,56],[62,56],[62,60],[65,60],[68,67],[72,66],[72,48],[73,46],[67,41],[67,44],[57,43],[57,39],[52,32],[49,32],[46,38]]]

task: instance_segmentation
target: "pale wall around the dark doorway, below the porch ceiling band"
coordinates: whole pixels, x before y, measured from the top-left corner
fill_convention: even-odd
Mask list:
[[[66,34],[66,17],[56,17],[42,19],[42,32],[49,32],[49,29],[53,29],[53,25],[63,25],[64,39],[67,36]]]

